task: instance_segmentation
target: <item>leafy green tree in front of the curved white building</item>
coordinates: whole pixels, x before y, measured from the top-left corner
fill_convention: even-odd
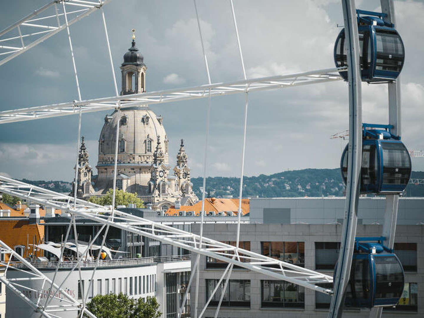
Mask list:
[[[144,301],[142,298],[129,298],[123,293],[97,295],[86,307],[98,318],[159,318],[162,315],[156,298],[148,297]]]

